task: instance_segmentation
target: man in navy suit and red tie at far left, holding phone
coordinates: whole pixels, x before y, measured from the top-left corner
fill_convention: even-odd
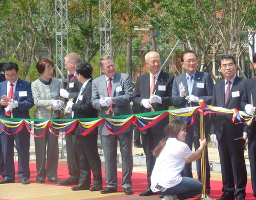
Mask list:
[[[4,73],[6,81],[0,83],[2,118],[30,118],[29,108],[34,106],[31,92],[31,83],[21,80],[18,65],[14,62],[5,63]],[[7,131],[8,132],[8,131]],[[13,160],[14,140],[18,151],[18,177],[22,184],[29,184],[29,145],[30,134],[26,127],[15,134],[9,135],[0,131],[2,151],[4,156],[3,179],[0,184],[15,181],[15,169]]]

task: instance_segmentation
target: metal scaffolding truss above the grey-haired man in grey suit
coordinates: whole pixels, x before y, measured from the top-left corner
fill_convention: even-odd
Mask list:
[[[111,0],[99,0],[100,57],[111,56]]]

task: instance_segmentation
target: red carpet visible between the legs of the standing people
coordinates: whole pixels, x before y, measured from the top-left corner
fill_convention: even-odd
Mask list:
[[[17,172],[17,162],[15,162],[15,170]],[[30,182],[36,182],[36,164],[30,163]],[[104,179],[104,170],[102,170],[102,175]],[[59,165],[58,167],[58,177],[61,181],[66,180],[69,177],[68,174],[68,167],[66,165]],[[15,177],[16,181],[18,181],[18,175]],[[122,173],[118,172],[118,191],[123,192],[123,188],[120,186],[122,181]],[[104,182],[104,180],[103,180]],[[47,182],[47,179],[45,180],[45,183],[47,185],[58,185],[55,183]],[[141,191],[144,191],[147,188],[147,174],[145,173],[133,173],[132,174],[132,185],[133,185],[133,191],[134,193],[140,193]],[[59,185],[58,185],[59,186]],[[62,186],[63,187],[63,186]],[[73,186],[68,186],[73,187]],[[103,185],[103,187],[106,187],[106,184]],[[211,195],[210,197],[213,199],[217,199],[222,195],[222,182],[221,181],[211,181]],[[255,199],[253,197],[252,193],[252,185],[251,183],[247,183],[246,186],[246,200]]]

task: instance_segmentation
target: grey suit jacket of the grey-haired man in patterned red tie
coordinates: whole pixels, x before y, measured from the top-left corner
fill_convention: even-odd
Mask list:
[[[99,117],[109,117],[106,114],[108,107],[100,106],[100,95],[108,97],[108,89],[105,75],[93,79],[92,81],[92,107],[99,110]],[[130,115],[132,109],[130,102],[132,100],[132,79],[129,75],[116,72],[111,97],[113,97],[115,104],[113,105],[113,113],[115,116]],[[128,127],[124,132],[132,130],[132,126]],[[99,134],[108,135],[105,123],[99,125]]]

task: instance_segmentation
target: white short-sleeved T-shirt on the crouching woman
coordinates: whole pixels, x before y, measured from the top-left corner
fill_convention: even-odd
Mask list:
[[[186,164],[186,158],[193,152],[186,143],[176,138],[168,138],[161,154],[156,158],[156,163],[151,174],[151,190],[159,191],[155,186],[158,184],[165,188],[178,185],[182,178],[180,172]]]

